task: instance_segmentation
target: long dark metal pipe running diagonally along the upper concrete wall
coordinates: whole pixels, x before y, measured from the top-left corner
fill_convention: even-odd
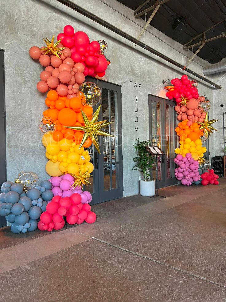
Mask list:
[[[168,58],[167,56],[165,56],[164,54],[162,54],[161,52],[154,50],[152,47],[146,45],[145,43],[139,41],[138,39],[132,37],[131,35],[125,33],[124,31],[120,30],[119,28],[115,27],[114,25],[108,23],[107,21],[95,16],[94,14],[90,13],[88,10],[85,10],[84,8],[82,8],[81,6],[73,3],[70,0],[56,0],[58,2],[60,2],[61,4],[71,8],[72,10],[75,10],[76,12],[84,15],[85,17],[97,22],[98,24],[104,26],[105,28],[115,32],[116,34],[119,34],[121,37],[126,38],[127,40],[133,42],[134,44],[148,50],[149,52],[151,52],[152,54],[157,55],[159,58],[162,58],[163,60],[173,64],[174,66],[177,66],[178,68],[192,74],[193,76],[201,79],[202,81],[216,87],[216,89],[221,89],[220,85],[217,85],[216,83],[213,83],[212,81],[206,79],[205,77],[201,76],[200,74],[197,74],[196,72],[194,72],[193,70],[190,70],[188,68],[186,68],[185,66],[183,66],[182,64]]]

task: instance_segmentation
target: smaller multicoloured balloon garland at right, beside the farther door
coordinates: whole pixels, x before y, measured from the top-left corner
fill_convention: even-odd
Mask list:
[[[203,157],[206,147],[202,146],[202,142],[208,139],[212,130],[216,130],[211,125],[217,120],[208,120],[210,102],[204,96],[199,96],[197,81],[189,80],[185,74],[181,79],[172,79],[171,84],[165,87],[168,90],[166,96],[175,100],[177,105],[174,109],[179,121],[175,128],[180,144],[179,148],[175,149],[177,156],[174,162],[178,165],[175,176],[181,184],[187,186],[192,183],[217,185],[219,176],[214,174],[214,170],[209,170],[210,163]],[[202,169],[203,164],[205,169]]]

